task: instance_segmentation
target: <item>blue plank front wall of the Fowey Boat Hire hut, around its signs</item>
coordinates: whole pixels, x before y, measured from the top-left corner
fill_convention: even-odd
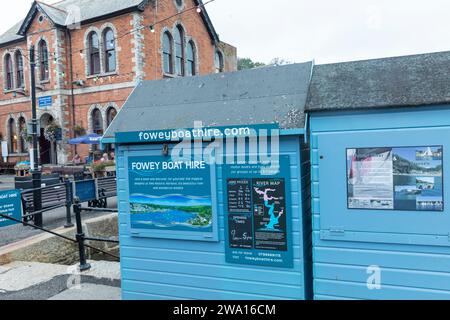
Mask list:
[[[308,214],[302,208],[308,205],[309,181],[308,149],[302,145],[303,137],[283,137],[280,150],[290,156],[291,212],[293,226],[294,268],[270,268],[229,264],[225,262],[224,200],[222,170],[218,168],[218,202],[220,242],[158,240],[131,237],[127,229],[128,194],[127,171],[124,167],[127,150],[148,150],[149,155],[160,155],[161,146],[118,146],[118,198],[120,223],[120,249],[123,299],[304,299],[310,296],[305,277],[311,280],[310,264],[305,267],[305,239],[310,244],[309,231],[304,232],[304,219]],[[306,155],[301,160],[301,152]],[[308,193],[308,192],[307,192]],[[309,201],[307,201],[309,203]],[[306,259],[310,260],[310,259]],[[310,261],[309,261],[310,263]],[[305,273],[306,272],[306,273]]]

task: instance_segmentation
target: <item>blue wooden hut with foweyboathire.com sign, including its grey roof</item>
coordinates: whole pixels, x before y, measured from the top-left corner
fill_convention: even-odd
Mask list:
[[[136,87],[103,138],[116,145],[124,299],[311,297],[311,71],[305,63]],[[264,139],[273,167],[259,158]]]

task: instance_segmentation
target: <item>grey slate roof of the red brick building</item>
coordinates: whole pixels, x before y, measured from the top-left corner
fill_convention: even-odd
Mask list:
[[[28,24],[35,14],[35,10],[39,8],[58,26],[66,26],[72,21],[67,17],[69,12],[73,12],[73,8],[80,8],[81,22],[92,21],[97,18],[112,15],[114,13],[126,10],[142,10],[144,6],[151,0],[63,0],[55,4],[45,4],[35,1],[28,12],[27,17],[14,25],[11,29],[0,36],[0,45],[24,39],[23,35]],[[194,0],[196,5],[203,5],[202,0]],[[201,12],[201,17],[208,28],[208,32],[214,41],[219,41],[219,37],[211,23],[206,9]]]

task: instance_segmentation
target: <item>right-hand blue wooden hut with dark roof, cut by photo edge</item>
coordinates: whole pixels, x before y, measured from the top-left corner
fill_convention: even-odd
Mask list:
[[[450,53],[314,67],[315,299],[450,298]]]

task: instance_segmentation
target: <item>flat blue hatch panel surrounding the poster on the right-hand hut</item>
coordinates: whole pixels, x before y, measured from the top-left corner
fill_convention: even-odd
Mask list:
[[[347,209],[346,149],[402,146],[444,146],[444,201],[450,199],[450,127],[332,132],[318,137],[321,230],[440,235],[450,233],[450,205],[444,212]],[[324,236],[326,236],[324,234]],[[345,237],[345,235],[343,235]],[[383,241],[380,235],[378,241]],[[369,241],[369,239],[365,239]],[[386,240],[386,239],[385,239]],[[428,238],[433,244],[433,237]],[[442,240],[442,239],[441,239]],[[357,239],[352,239],[357,241]],[[372,239],[371,241],[377,241]],[[406,238],[404,242],[410,242]],[[440,241],[442,243],[442,241]],[[426,243],[421,243],[426,244]],[[450,245],[448,241],[447,245]]]

